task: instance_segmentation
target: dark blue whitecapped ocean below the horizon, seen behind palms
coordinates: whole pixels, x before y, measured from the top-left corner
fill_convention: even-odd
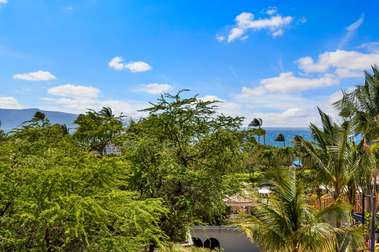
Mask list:
[[[247,129],[247,128],[241,128],[241,129]],[[283,142],[276,142],[275,138],[278,136],[279,133],[282,133],[285,138],[285,145],[293,146],[291,144],[290,139],[292,140],[295,135],[299,135],[302,138],[304,138],[307,141],[312,140],[310,137],[310,129],[309,128],[263,128],[266,131],[266,139],[265,143],[266,145],[274,145],[274,146],[282,146]],[[255,136],[258,141],[258,136]],[[259,139],[260,143],[263,144],[263,136],[260,136]],[[358,135],[357,137],[354,137],[354,141],[358,143],[361,140],[361,137]]]

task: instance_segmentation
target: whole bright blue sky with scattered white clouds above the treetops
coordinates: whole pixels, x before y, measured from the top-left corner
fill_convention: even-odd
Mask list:
[[[378,1],[0,0],[0,108],[133,118],[190,89],[266,127],[319,123],[316,106],[379,64]]]

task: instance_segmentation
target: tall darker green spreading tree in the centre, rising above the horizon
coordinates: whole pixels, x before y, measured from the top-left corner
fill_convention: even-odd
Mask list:
[[[163,198],[169,218],[161,228],[172,241],[183,240],[194,223],[221,224],[229,213],[222,199],[239,187],[233,172],[244,170],[243,118],[216,114],[218,101],[181,98],[184,91],[161,95],[123,135],[130,188],[141,199]]]

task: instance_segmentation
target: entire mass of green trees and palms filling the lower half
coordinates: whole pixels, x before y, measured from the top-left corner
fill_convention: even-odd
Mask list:
[[[356,192],[378,190],[379,69],[372,71],[333,104],[343,120],[319,109],[322,127],[310,124],[310,140],[296,135],[288,144],[280,133],[283,147],[266,145],[262,119],[241,128],[244,117],[220,114],[219,101],[187,98],[188,90],[162,94],[138,119],[103,107],[72,125],[52,124],[36,111],[0,130],[0,246],[195,251],[174,243],[194,225],[230,224],[265,251],[363,249],[363,234],[367,241],[379,222],[371,198],[370,223],[353,218]],[[107,153],[110,145],[120,151]],[[264,186],[273,191],[266,198]],[[255,203],[252,215],[229,216],[224,199],[237,193]],[[322,207],[328,194],[333,203]]]

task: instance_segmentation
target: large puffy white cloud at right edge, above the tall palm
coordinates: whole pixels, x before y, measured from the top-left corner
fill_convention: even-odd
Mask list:
[[[376,62],[379,62],[379,51],[365,54],[344,50],[321,53],[316,63],[309,56],[294,61],[305,73],[324,73],[333,68],[334,73],[337,73],[340,78],[362,76],[362,70],[370,68],[370,65]]]

